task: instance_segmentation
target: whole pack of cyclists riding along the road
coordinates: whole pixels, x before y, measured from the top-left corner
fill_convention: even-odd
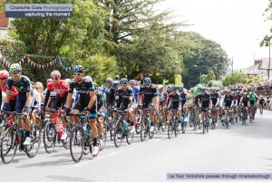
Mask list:
[[[228,109],[228,124],[231,125],[234,114],[240,110],[245,110],[248,117],[248,109],[253,109],[253,119],[257,111],[257,105],[263,106],[263,97],[258,99],[257,94],[246,91],[219,91],[218,89],[207,89],[201,84],[190,90],[182,86],[163,86],[162,84],[152,84],[151,78],[143,79],[140,86],[136,86],[136,80],[121,78],[113,81],[107,78],[105,85],[98,87],[92,81],[92,77],[85,75],[82,65],[73,67],[73,80],[62,80],[61,72],[51,72],[47,81],[45,91],[41,82],[32,82],[23,75],[22,67],[18,63],[10,66],[9,71],[0,71],[0,103],[2,104],[2,114],[7,111],[22,113],[24,120],[17,123],[20,129],[24,129],[24,146],[30,145],[30,130],[32,124],[37,123],[35,116],[44,113],[47,108],[50,110],[62,109],[60,120],[56,120],[56,125],[62,129],[61,140],[69,137],[67,135],[67,123],[65,115],[76,113],[87,113],[90,126],[92,128],[92,154],[97,155],[99,145],[102,144],[103,120],[105,120],[107,110],[126,110],[128,112],[127,122],[130,132],[135,132],[139,121],[135,117],[136,110],[146,111],[151,116],[150,132],[153,132],[160,119],[161,129],[170,125],[170,116],[176,112],[177,129],[187,124],[191,118],[198,117],[200,112],[200,122],[203,122],[205,111],[208,110],[209,123],[212,122],[212,115],[215,115],[215,125],[218,126],[219,118]],[[149,110],[144,110],[149,109]],[[31,117],[29,116],[31,115]],[[112,112],[111,117],[116,115]],[[73,123],[78,119],[70,117]],[[104,123],[104,124],[103,124]],[[1,141],[2,142],[2,141]]]

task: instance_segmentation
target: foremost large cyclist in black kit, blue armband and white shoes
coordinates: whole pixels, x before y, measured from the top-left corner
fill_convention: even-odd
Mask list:
[[[92,154],[97,155],[99,152],[99,144],[97,142],[98,129],[96,126],[96,96],[93,87],[93,83],[90,79],[84,78],[85,69],[82,65],[75,65],[73,67],[73,81],[70,83],[69,93],[66,101],[66,113],[79,113],[83,110],[90,113],[89,121],[92,127],[92,138],[93,138],[93,150]],[[74,104],[73,110],[71,110],[73,89],[78,91],[80,97],[79,100]]]

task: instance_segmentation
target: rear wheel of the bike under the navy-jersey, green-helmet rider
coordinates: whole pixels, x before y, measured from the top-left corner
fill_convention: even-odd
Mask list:
[[[34,158],[41,146],[42,126],[34,124],[31,127],[30,133],[31,144],[25,147],[26,155],[28,156],[28,158]]]

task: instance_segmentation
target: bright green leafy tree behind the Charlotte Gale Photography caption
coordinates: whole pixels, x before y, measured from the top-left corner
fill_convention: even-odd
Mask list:
[[[73,3],[73,18],[15,18],[9,34],[26,44],[27,53],[84,59],[102,51],[102,9],[83,0],[10,0],[8,3]]]

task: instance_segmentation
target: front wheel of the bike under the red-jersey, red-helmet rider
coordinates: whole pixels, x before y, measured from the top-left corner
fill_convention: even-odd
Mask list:
[[[44,148],[48,154],[53,152],[55,146],[55,141],[57,137],[57,132],[54,127],[53,121],[48,120],[44,126]]]

